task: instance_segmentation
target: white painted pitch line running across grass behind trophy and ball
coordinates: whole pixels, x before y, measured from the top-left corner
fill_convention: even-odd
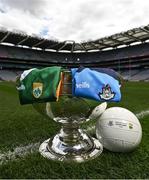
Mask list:
[[[143,117],[149,115],[149,110],[141,111],[140,113],[137,113],[136,116],[139,119],[142,119]],[[93,132],[95,130],[95,126],[89,126],[87,129],[85,129],[88,132]],[[19,146],[16,147],[13,151],[7,151],[5,153],[0,152],[0,165],[7,163],[8,161],[16,160],[17,158],[24,157],[27,154],[31,154],[34,152],[38,152],[40,143],[31,143],[27,146]]]

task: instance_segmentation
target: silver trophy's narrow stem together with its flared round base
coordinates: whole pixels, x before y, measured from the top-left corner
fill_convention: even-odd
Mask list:
[[[39,149],[48,159],[67,162],[93,159],[102,150],[99,140],[80,129],[77,123],[63,123],[59,133],[44,141]]]

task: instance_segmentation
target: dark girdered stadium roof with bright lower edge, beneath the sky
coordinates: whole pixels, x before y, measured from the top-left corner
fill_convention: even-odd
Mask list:
[[[7,31],[0,29],[0,44],[15,45],[18,47],[29,47],[33,49],[51,50],[56,52],[89,52],[102,51],[122,46],[130,46],[137,43],[149,41],[149,25],[134,28],[125,32],[100,38],[94,41],[75,42],[66,40],[63,42],[44,39],[39,36],[27,35],[20,31]]]

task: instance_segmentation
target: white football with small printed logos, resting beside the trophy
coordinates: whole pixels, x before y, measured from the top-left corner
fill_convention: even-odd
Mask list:
[[[98,118],[96,136],[113,152],[133,151],[141,142],[142,128],[137,117],[121,107],[106,109]]]

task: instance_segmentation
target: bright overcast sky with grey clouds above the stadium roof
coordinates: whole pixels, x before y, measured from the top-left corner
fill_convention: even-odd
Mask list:
[[[0,28],[87,41],[149,24],[148,0],[0,0]]]

